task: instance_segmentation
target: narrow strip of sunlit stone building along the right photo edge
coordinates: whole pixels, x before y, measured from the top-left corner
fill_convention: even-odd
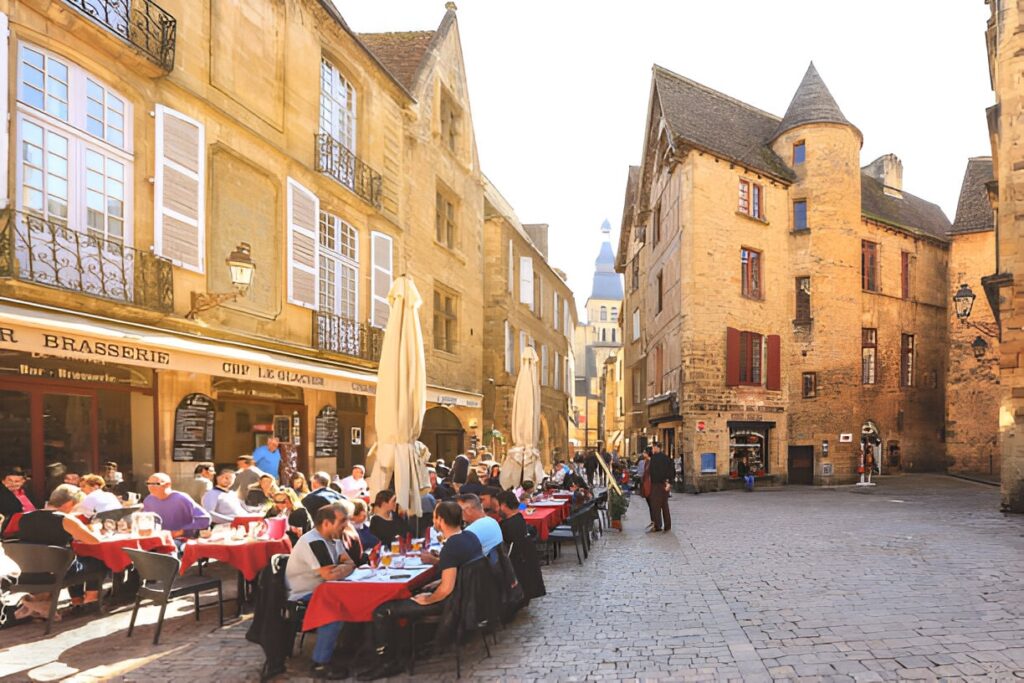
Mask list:
[[[988,76],[995,104],[988,108],[992,143],[990,185],[995,210],[995,269],[983,279],[999,327],[999,450],[1002,506],[1024,512],[1024,7],[988,0],[985,32]],[[981,306],[976,307],[980,308]]]

